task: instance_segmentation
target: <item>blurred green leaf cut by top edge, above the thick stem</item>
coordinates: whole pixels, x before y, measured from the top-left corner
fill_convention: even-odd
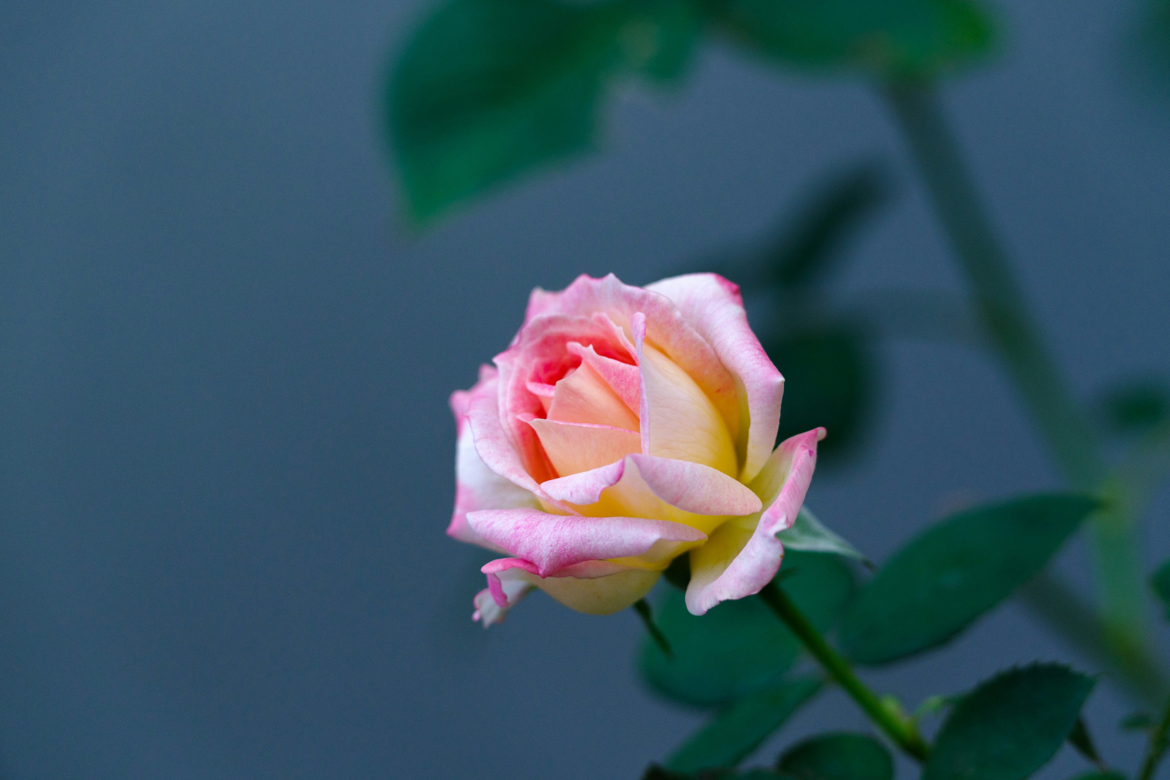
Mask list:
[[[982,57],[993,29],[968,0],[723,0],[731,36],[786,64],[923,77]]]

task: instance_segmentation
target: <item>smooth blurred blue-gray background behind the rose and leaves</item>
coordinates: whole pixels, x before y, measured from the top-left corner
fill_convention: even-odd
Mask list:
[[[1078,393],[1170,372],[1170,112],[1127,75],[1136,6],[1002,5],[1003,56],[947,102],[1039,317]],[[622,95],[607,153],[412,236],[378,98],[422,11],[0,6],[6,780],[636,778],[700,716],[639,688],[632,614],[537,595],[470,623],[448,393],[534,285],[653,281],[859,157],[892,160],[900,198],[841,294],[957,288],[875,96],[720,49],[676,94]],[[984,358],[882,357],[870,446],[811,492],[874,558],[956,502],[1059,485]],[[1083,582],[1080,545],[1061,565]],[[1033,657],[1073,656],[1009,605],[870,678],[913,703]],[[1122,767],[1127,706],[1103,684],[1088,710]],[[865,724],[830,695],[772,747],[826,727]]]

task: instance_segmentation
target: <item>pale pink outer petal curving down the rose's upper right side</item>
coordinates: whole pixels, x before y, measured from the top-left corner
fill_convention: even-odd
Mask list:
[[[763,468],[780,422],[784,377],[769,359],[748,325],[739,288],[716,274],[688,274],[646,288],[669,298],[746,394],[746,458],[739,478],[751,481]]]

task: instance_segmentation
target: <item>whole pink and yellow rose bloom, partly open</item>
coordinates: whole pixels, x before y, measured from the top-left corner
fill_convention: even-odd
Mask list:
[[[476,620],[532,587],[605,615],[690,555],[695,615],[780,567],[824,428],[772,450],[784,378],[739,289],[714,274],[646,288],[612,274],[532,291],[495,367],[450,398],[459,427],[447,533],[502,557]]]

